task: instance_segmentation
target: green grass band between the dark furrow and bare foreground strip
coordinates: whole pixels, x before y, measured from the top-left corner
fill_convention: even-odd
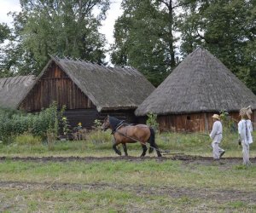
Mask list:
[[[170,172],[172,171],[172,172]],[[104,161],[104,162],[67,162],[35,163],[7,160],[0,164],[2,181],[61,181],[91,184],[93,182],[114,182],[117,184],[137,184],[160,187],[162,185],[178,187],[222,187],[253,190],[256,167],[250,169],[237,167],[225,168],[211,165],[183,165],[180,161],[166,160],[158,162]],[[236,176],[236,178],[234,178]],[[209,184],[210,183],[210,184]]]

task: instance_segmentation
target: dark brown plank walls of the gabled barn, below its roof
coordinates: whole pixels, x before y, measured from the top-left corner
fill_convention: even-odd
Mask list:
[[[67,117],[71,128],[81,122],[84,128],[91,129],[96,119],[103,120],[107,115],[129,123],[135,121],[134,110],[97,112],[90,99],[54,62],[26,95],[19,108],[26,112],[39,112],[42,108],[49,107],[53,101],[57,102],[59,109],[66,105],[63,116]]]

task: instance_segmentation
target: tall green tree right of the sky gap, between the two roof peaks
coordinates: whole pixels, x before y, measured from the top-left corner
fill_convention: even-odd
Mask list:
[[[155,86],[177,65],[174,37],[181,1],[123,0],[114,26],[113,64],[134,66]]]

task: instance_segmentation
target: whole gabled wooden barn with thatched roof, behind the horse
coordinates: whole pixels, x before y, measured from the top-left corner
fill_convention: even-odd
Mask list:
[[[38,112],[56,101],[66,106],[71,126],[91,128],[108,114],[136,122],[134,111],[154,86],[135,69],[99,66],[83,60],[51,57],[20,101],[19,108]]]

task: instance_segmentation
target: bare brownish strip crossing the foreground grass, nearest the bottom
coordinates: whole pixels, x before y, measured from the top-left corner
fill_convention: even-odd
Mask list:
[[[97,191],[104,189],[114,189],[119,191],[136,193],[147,196],[160,195],[174,199],[211,199],[218,203],[231,201],[243,201],[251,204],[256,203],[256,192],[242,192],[238,190],[212,190],[212,189],[192,189],[188,187],[145,187],[142,185],[121,185],[112,183],[60,183],[60,182],[20,182],[20,181],[0,181],[1,188],[15,188],[19,190],[73,190],[73,191]]]

